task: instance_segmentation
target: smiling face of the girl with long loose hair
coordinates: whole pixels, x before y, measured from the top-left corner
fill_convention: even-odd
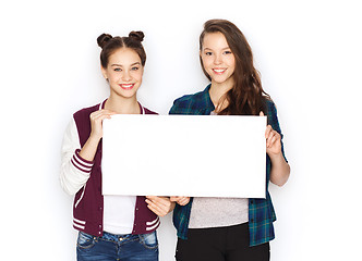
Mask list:
[[[208,33],[205,35],[200,55],[204,70],[212,78],[212,84],[233,85],[233,72],[236,58],[221,33]]]

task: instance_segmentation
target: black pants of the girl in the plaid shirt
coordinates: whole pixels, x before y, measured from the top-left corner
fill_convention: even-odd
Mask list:
[[[268,261],[269,243],[249,246],[249,223],[215,228],[189,229],[178,238],[177,261]]]

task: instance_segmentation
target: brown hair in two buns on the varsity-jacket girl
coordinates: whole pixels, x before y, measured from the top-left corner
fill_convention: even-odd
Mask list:
[[[100,64],[104,69],[108,66],[109,57],[113,54],[120,48],[130,48],[134,50],[141,58],[142,66],[146,63],[146,52],[142,46],[142,41],[145,35],[143,32],[132,30],[128,37],[112,37],[109,34],[101,34],[97,38],[98,46],[101,48]]]

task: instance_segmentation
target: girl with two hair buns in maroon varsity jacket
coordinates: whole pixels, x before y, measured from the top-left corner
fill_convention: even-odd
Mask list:
[[[158,215],[174,208],[166,197],[101,195],[102,121],[117,113],[156,114],[136,99],[146,62],[143,38],[142,32],[131,32],[128,37],[98,37],[109,98],[74,113],[64,134],[60,182],[65,192],[75,195],[73,226],[80,231],[80,261],[158,260]],[[147,156],[140,151],[134,157]],[[120,175],[128,173],[120,171]]]

